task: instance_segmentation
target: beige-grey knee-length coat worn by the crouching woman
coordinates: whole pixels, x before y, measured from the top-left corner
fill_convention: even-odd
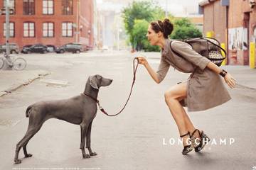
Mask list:
[[[183,57],[171,51],[170,42],[172,49]],[[185,42],[166,39],[156,73],[160,82],[166,77],[170,65],[180,72],[192,73],[188,78],[187,97],[181,104],[188,107],[188,111],[204,111],[231,99],[223,78],[206,67],[209,62]]]

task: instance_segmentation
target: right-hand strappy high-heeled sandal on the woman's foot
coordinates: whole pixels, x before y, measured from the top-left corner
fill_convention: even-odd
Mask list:
[[[198,132],[198,134],[199,134],[199,137],[200,137],[199,144],[196,141],[196,139],[198,139],[198,138],[194,137],[195,132]],[[210,142],[210,138],[203,132],[203,130],[202,130],[202,132],[200,132],[198,129],[196,129],[191,134],[191,141],[192,141],[192,145],[195,149],[195,152],[200,152],[203,149],[203,147],[205,147],[206,144],[208,142]]]

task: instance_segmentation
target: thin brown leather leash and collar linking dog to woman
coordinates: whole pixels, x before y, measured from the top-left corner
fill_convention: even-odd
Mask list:
[[[136,65],[136,67],[135,67],[135,60],[137,60],[137,65]],[[108,116],[119,115],[119,114],[124,110],[125,106],[127,106],[127,103],[128,103],[128,101],[129,101],[129,98],[131,97],[132,89],[133,89],[133,87],[134,87],[134,83],[135,83],[135,79],[136,79],[136,72],[137,72],[138,66],[139,66],[139,58],[138,58],[138,57],[135,57],[134,60],[133,60],[133,75],[134,75],[134,77],[133,77],[133,81],[132,81],[131,91],[130,91],[130,93],[129,93],[129,96],[128,96],[128,98],[127,98],[126,103],[124,104],[124,107],[123,107],[123,108],[121,109],[121,111],[119,111],[118,113],[116,113],[116,114],[114,114],[114,115],[109,115],[109,114],[104,110],[104,108],[102,108],[102,106],[100,106],[100,101],[98,101],[97,98],[93,98],[92,96],[90,96],[90,95],[88,95],[88,94],[85,94],[85,93],[84,93],[84,94],[85,94],[86,96],[92,98],[94,101],[96,101],[96,102],[97,102],[97,106],[99,106],[99,108],[100,108],[100,111],[102,111],[102,113],[104,113],[105,115],[108,115]]]

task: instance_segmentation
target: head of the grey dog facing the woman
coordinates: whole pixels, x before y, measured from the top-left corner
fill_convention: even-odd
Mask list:
[[[112,79],[106,79],[99,74],[89,77],[90,86],[92,86],[93,89],[97,90],[100,89],[101,86],[110,86],[112,81]]]

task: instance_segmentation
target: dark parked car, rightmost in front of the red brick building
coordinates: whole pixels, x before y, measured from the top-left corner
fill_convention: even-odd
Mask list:
[[[78,43],[68,43],[66,45],[62,45],[57,47],[55,52],[63,53],[63,52],[73,52],[73,53],[80,53],[83,52],[85,49],[81,44]]]

